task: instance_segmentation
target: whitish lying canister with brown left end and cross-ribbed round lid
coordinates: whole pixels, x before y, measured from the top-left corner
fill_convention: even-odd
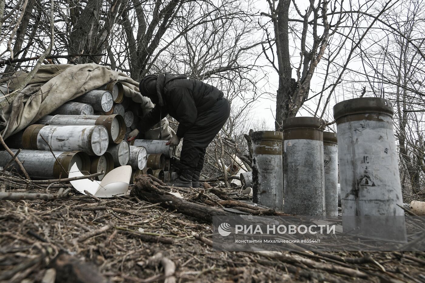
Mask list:
[[[46,144],[47,142],[47,144]],[[108,130],[103,126],[31,125],[23,133],[25,149],[73,151],[101,156],[108,148]]]

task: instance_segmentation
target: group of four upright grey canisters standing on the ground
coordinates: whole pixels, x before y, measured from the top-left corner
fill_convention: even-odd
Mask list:
[[[380,221],[370,216],[379,215],[394,230],[379,236],[405,240],[404,218],[394,217],[404,211],[393,113],[388,99],[349,99],[334,106],[336,134],[324,132],[315,117],[285,119],[283,132],[252,133],[253,201],[288,214],[334,218],[339,178],[345,231],[363,227],[364,235],[377,236]]]

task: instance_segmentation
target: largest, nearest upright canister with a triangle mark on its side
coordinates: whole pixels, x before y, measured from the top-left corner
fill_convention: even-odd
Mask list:
[[[359,227],[366,236],[405,241],[393,113],[388,99],[374,97],[349,99],[334,106],[343,229]],[[386,217],[381,216],[382,221],[370,216],[349,221],[349,215]]]

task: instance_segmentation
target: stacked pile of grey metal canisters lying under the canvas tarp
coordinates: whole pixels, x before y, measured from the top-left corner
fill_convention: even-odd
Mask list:
[[[67,178],[74,163],[84,174],[102,173],[131,165],[134,174],[152,174],[162,181],[176,177],[173,147],[167,141],[126,138],[143,116],[139,103],[124,96],[120,82],[89,91],[6,139],[6,144],[32,178]],[[52,154],[52,152],[54,154]],[[0,166],[13,167],[0,151]],[[10,167],[9,167],[10,170]]]

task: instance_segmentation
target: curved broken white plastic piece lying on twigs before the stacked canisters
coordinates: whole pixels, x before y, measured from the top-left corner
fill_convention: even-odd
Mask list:
[[[77,164],[72,165],[68,174],[69,178],[84,176],[78,170]],[[111,198],[125,195],[130,184],[131,166],[120,166],[113,169],[103,177],[102,181],[91,181],[89,179],[80,179],[71,181],[71,185],[82,194],[84,191],[90,192],[97,198]]]

